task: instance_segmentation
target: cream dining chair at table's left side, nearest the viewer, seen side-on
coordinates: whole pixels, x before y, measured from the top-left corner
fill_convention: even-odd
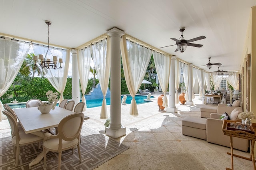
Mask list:
[[[14,116],[12,116],[12,114],[6,110],[3,110],[2,112],[7,116],[7,119],[10,123],[12,145],[14,146],[14,158],[16,158],[15,166],[18,166],[20,146],[40,142],[43,140],[43,138],[34,134],[26,134],[23,130],[19,130],[17,119],[15,119]]]

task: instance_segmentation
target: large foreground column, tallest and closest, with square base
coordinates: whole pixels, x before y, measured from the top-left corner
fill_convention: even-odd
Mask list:
[[[121,36],[124,32],[112,28],[106,34],[110,36],[110,126],[106,135],[116,139],[126,134],[126,128],[121,124]]]

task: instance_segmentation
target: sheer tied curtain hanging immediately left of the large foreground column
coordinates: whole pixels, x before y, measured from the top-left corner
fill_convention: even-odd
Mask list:
[[[108,118],[106,94],[110,76],[110,40],[109,36],[92,45],[92,60],[100,82],[100,88],[103,93],[100,119]],[[120,101],[121,102],[121,101]]]

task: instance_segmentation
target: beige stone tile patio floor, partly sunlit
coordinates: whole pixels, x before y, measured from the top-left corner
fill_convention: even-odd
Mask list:
[[[177,113],[158,112],[157,98],[138,105],[139,116],[129,115],[130,105],[122,107],[122,125],[126,136],[116,140],[130,146],[128,150],[105,162],[95,170],[224,170],[231,168],[230,148],[211,144],[205,140],[184,136],[181,120],[186,116],[200,117],[202,100],[196,95],[193,106],[177,104]],[[87,108],[84,112],[90,126],[104,134],[105,120],[100,120],[100,109]],[[110,117],[110,106],[108,106]],[[8,128],[8,121],[0,122],[0,129]],[[1,132],[1,131],[0,131]],[[1,135],[0,135],[1,136]],[[250,157],[249,152],[234,150],[235,154]],[[234,157],[235,170],[252,170],[252,162]]]

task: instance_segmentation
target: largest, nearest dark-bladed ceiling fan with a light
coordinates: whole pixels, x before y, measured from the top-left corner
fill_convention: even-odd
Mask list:
[[[186,50],[187,46],[192,46],[192,47],[202,47],[203,46],[202,44],[194,44],[194,43],[190,43],[190,42],[202,40],[202,39],[206,38],[205,36],[199,36],[196,38],[192,38],[190,40],[185,40],[183,37],[184,30],[185,30],[185,28],[180,28],[181,36],[180,36],[179,40],[177,40],[176,38],[171,38],[172,40],[176,41],[176,44],[170,45],[170,46],[177,45],[175,52],[180,51],[182,53]],[[164,47],[169,47],[169,46],[164,46]],[[160,47],[160,48],[164,48],[164,47]]]

